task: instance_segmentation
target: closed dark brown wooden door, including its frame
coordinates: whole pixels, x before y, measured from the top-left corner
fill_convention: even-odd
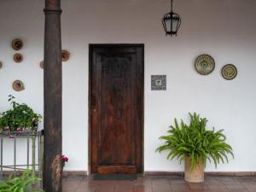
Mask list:
[[[90,44],[90,172],[143,172],[143,45]]]

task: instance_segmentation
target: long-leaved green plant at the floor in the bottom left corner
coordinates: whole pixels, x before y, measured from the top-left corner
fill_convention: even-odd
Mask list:
[[[41,178],[32,174],[32,171],[26,170],[20,177],[10,176],[6,182],[0,182],[1,192],[44,192],[38,189],[38,183]]]

